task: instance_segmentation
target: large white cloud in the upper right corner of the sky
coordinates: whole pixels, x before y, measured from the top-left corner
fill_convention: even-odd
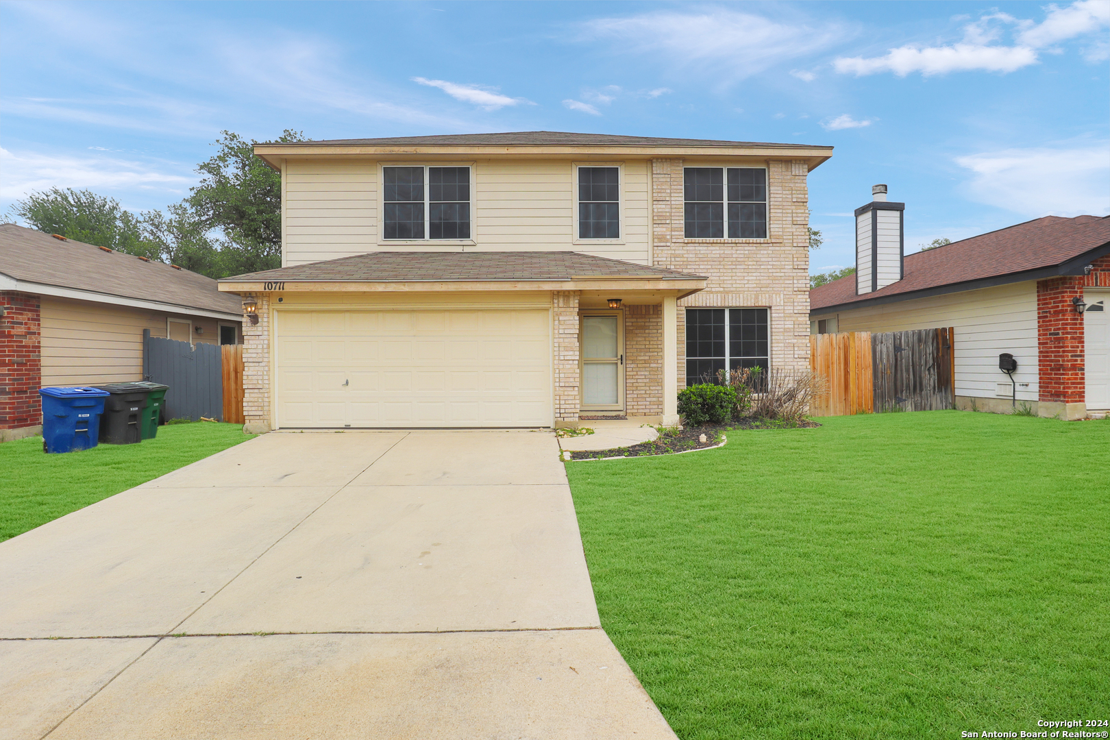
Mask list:
[[[1079,0],[1067,8],[1050,4],[1040,23],[992,12],[966,24],[961,42],[940,47],[906,44],[888,50],[882,57],[840,57],[833,68],[856,77],[879,72],[894,72],[898,77],[920,72],[928,77],[971,70],[1006,74],[1038,63],[1040,51],[1054,51],[1050,44],[1096,33],[1106,26],[1110,26],[1107,0]],[[1012,30],[1013,44],[993,43],[1007,28]],[[1103,40],[1096,40],[1083,55],[1088,61],[1100,61],[1107,49],[1110,47]]]

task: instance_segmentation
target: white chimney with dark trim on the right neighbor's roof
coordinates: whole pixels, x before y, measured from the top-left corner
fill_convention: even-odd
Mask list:
[[[887,186],[871,187],[871,202],[856,209],[856,295],[902,278],[905,203],[887,200]]]

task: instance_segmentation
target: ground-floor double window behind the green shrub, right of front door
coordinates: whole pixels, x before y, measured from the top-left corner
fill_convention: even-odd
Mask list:
[[[720,371],[767,369],[767,308],[687,308],[686,385],[716,383]]]

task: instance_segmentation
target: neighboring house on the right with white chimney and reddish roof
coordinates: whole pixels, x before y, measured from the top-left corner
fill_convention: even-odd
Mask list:
[[[875,199],[856,210],[856,274],[809,292],[814,333],[952,326],[960,408],[1110,409],[1110,216],[1045,216],[904,257],[905,204],[886,185]]]

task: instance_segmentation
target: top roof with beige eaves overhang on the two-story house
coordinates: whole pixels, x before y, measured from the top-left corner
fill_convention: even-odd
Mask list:
[[[770,142],[659,139],[605,134],[524,131],[511,134],[455,134],[394,139],[262,143],[254,153],[275,170],[286,159],[458,160],[528,156],[574,158],[715,158],[804,160],[814,170],[833,156],[831,146]]]

